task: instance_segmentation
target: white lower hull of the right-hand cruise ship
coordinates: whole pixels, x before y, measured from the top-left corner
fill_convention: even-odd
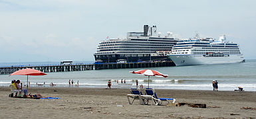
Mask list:
[[[168,55],[176,66],[180,65],[205,65],[218,63],[240,63],[244,61],[242,55],[230,55],[229,57],[203,57],[199,55]]]

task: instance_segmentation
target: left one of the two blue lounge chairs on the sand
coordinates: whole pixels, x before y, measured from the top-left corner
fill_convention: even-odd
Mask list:
[[[131,94],[127,95],[129,104],[132,104],[134,102],[134,100],[136,100],[136,99],[140,100],[140,104],[143,103],[142,99],[140,98],[140,95],[142,95],[142,91],[140,91],[140,89],[130,89],[130,93]],[[132,102],[130,102],[129,98],[133,99]]]

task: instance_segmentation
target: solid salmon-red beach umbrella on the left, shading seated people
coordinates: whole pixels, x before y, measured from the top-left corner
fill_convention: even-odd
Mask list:
[[[29,75],[47,75],[46,73],[43,73],[42,71],[38,71],[36,69],[21,69],[18,71],[15,71],[14,73],[11,73],[11,75],[27,75],[27,90],[29,89]]]

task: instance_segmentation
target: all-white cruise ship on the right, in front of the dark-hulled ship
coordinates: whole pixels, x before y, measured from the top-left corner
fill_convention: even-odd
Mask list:
[[[215,63],[239,63],[245,61],[239,45],[226,40],[225,35],[218,41],[213,38],[180,40],[167,55],[176,65],[203,65]]]

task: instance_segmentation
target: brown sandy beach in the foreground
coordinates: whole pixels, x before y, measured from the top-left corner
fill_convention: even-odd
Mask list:
[[[256,110],[241,109],[256,108],[256,92],[249,91],[156,89],[158,97],[206,104],[207,108],[140,105],[138,100],[131,105],[128,89],[33,87],[29,92],[61,99],[15,99],[8,97],[8,87],[0,87],[1,118],[256,118]]]

